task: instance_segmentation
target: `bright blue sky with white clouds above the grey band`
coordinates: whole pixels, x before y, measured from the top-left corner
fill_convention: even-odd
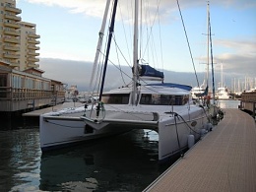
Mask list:
[[[130,9],[131,3],[127,2],[131,1],[119,0],[114,32],[116,44],[125,49],[127,60],[120,61],[120,53],[117,58],[117,46],[112,48],[113,56],[110,57],[111,61],[120,65],[127,65],[126,62],[132,60],[132,30],[128,15],[133,11]],[[207,62],[207,1],[178,1],[193,61],[177,1],[144,2],[148,7],[148,11],[144,12],[148,20],[143,23],[148,28],[142,28],[145,28],[144,36],[147,37],[139,46],[151,46],[156,53],[149,53],[142,48],[140,54],[143,55],[143,60],[164,70],[191,73],[194,73],[194,62],[197,72],[204,72]],[[36,33],[40,35],[39,58],[61,59],[71,63],[94,61],[105,7],[104,0],[17,0],[17,7],[22,9],[21,17],[24,22],[36,24]],[[215,70],[220,72],[223,66],[224,74],[231,74],[237,79],[250,77],[256,82],[256,1],[210,1],[210,19]],[[147,39],[151,32],[158,34],[149,45]],[[131,42],[127,44],[127,41]],[[149,58],[146,58],[146,55],[149,55]],[[39,64],[40,68],[45,70],[46,76],[47,73],[54,74],[47,71],[54,70],[52,67],[47,68],[47,64]],[[80,70],[75,65],[70,66],[70,69],[66,65],[65,67],[61,70]],[[57,73],[55,77],[50,78],[63,79]]]

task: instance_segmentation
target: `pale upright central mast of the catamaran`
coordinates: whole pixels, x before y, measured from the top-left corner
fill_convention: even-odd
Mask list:
[[[137,103],[137,82],[138,82],[138,10],[139,0],[135,0],[135,17],[134,17],[134,39],[133,39],[133,93],[132,104]]]

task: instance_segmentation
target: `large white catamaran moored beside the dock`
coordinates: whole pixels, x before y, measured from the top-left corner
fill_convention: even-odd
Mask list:
[[[137,11],[138,2],[135,1]],[[96,104],[41,115],[42,151],[132,129],[151,129],[159,134],[159,160],[164,160],[181,153],[195,140],[200,139],[202,132],[211,126],[208,111],[193,103],[190,86],[162,83],[163,73],[149,65],[138,63],[138,12],[135,12],[134,24],[132,84],[103,92],[102,75]],[[112,28],[111,25],[109,39]],[[107,50],[110,49],[109,40],[108,44]],[[105,64],[107,59],[106,54]],[[152,83],[153,80],[160,80],[160,83]]]

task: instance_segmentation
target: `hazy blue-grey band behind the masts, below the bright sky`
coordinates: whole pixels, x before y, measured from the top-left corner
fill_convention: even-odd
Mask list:
[[[40,69],[45,71],[43,77],[60,81],[71,85],[77,85],[79,91],[87,91],[92,74],[93,63],[85,61],[62,60],[53,58],[40,58]],[[113,65],[107,67],[107,77],[105,80],[105,90],[118,88],[127,85],[131,81],[131,69],[128,66],[121,66],[122,71],[127,74],[121,76],[120,70]],[[174,72],[163,71],[164,82],[173,82],[185,84],[189,86],[197,86],[197,81],[194,72]],[[128,75],[130,77],[128,77]],[[211,72],[210,72],[211,75]],[[197,73],[199,84],[203,83],[205,73]],[[225,74],[225,85],[231,87],[231,81],[234,78],[233,74]],[[244,78],[236,76],[236,78]],[[123,81],[124,80],[124,81]],[[216,88],[221,82],[221,74],[215,73]],[[212,77],[210,76],[210,87],[212,86]]]

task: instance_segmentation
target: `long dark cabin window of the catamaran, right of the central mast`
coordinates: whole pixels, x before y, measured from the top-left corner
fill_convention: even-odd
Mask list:
[[[149,105],[183,105],[188,101],[189,96],[151,95],[143,94],[140,104]]]

